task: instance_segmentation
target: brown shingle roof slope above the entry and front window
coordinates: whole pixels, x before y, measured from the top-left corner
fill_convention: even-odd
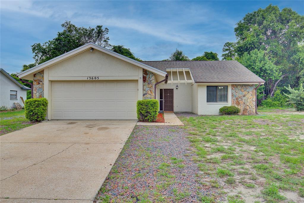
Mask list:
[[[142,61],[166,72],[189,68],[195,82],[265,82],[237,61]]]

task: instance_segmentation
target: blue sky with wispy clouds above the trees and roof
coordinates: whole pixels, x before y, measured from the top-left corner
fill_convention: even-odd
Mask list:
[[[167,59],[176,48],[190,59],[222,54],[245,14],[272,3],[304,15],[304,1],[1,1],[1,68],[19,72],[33,63],[31,45],[53,39],[65,20],[109,28],[110,44],[142,60]]]

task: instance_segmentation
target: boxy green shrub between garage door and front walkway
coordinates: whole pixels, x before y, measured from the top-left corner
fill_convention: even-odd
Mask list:
[[[156,99],[144,99],[137,101],[137,119],[140,121],[156,121],[159,104]]]

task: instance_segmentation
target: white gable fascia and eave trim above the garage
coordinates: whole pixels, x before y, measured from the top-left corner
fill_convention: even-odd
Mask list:
[[[46,68],[47,66],[50,66],[50,65],[52,65],[52,64],[54,64],[54,63],[56,63],[56,62],[59,62],[60,60],[63,60],[63,59],[65,59],[65,58],[67,58],[67,57],[70,57],[70,56],[72,56],[72,55],[74,55],[74,54],[77,54],[78,52],[84,51],[84,50],[86,50],[86,49],[88,49],[88,48],[94,48],[94,49],[96,49],[96,50],[98,50],[98,51],[104,52],[104,53],[109,54],[109,55],[111,55],[111,56],[114,56],[114,57],[116,57],[116,58],[118,58],[118,59],[121,59],[121,60],[123,60],[123,61],[132,63],[133,65],[139,66],[139,67],[141,67],[141,68],[144,68],[144,69],[146,69],[146,70],[149,70],[149,71],[151,71],[151,72],[153,72],[153,73],[155,73],[155,74],[158,74],[158,75],[160,75],[160,76],[163,76],[163,77],[165,77],[166,74],[167,74],[166,72],[161,71],[161,70],[159,70],[159,69],[156,69],[156,68],[154,68],[154,67],[152,67],[152,66],[148,66],[148,65],[146,65],[146,64],[143,64],[143,63],[138,62],[138,61],[136,61],[136,60],[130,59],[129,57],[126,57],[126,56],[124,56],[124,55],[118,54],[118,53],[113,52],[113,51],[111,51],[111,50],[109,50],[109,49],[107,49],[107,48],[104,48],[104,47],[102,47],[102,46],[99,46],[99,45],[96,45],[96,44],[90,42],[90,43],[85,44],[85,45],[83,45],[83,46],[81,46],[81,47],[78,47],[78,48],[76,48],[76,49],[73,49],[73,50],[70,51],[70,52],[67,52],[67,53],[64,53],[64,54],[62,54],[62,55],[60,55],[60,56],[57,56],[57,57],[55,57],[54,59],[50,59],[50,60],[48,60],[48,61],[46,61],[46,62],[44,62],[44,63],[41,63],[41,64],[39,64],[39,65],[37,65],[37,66],[35,66],[35,67],[33,67],[33,68],[27,69],[27,70],[25,70],[25,71],[23,71],[23,72],[21,72],[21,73],[17,73],[17,76],[18,76],[19,78],[22,78],[22,77],[25,77],[25,76],[27,76],[27,75],[29,75],[29,74],[37,73],[37,72],[43,70],[44,68]]]

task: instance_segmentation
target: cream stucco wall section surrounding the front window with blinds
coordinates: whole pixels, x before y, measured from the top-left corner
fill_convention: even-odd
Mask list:
[[[226,85],[228,86],[227,103],[207,103],[207,86]],[[198,114],[199,115],[218,115],[219,109],[223,106],[231,106],[231,84],[198,84]]]

